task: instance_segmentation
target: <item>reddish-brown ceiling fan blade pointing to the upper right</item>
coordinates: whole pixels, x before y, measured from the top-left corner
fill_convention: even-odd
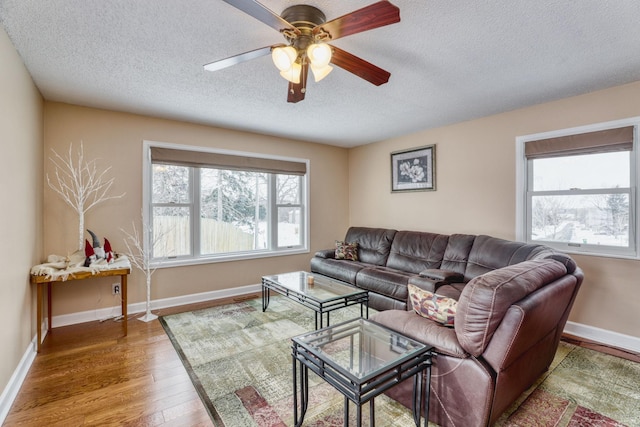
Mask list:
[[[396,22],[400,22],[400,9],[383,0],[320,24],[313,29],[313,35],[326,32],[330,40],[336,40]]]

